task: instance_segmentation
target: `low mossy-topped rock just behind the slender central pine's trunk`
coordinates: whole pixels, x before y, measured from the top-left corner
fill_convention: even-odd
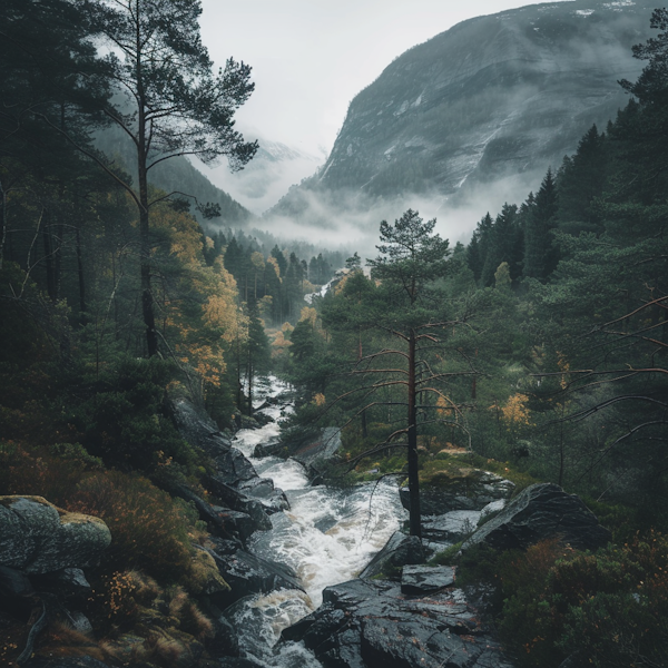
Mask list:
[[[491,501],[509,499],[515,485],[491,471],[460,466],[432,477],[420,490],[420,514],[440,515],[452,510],[482,510]],[[401,503],[411,510],[409,489],[400,491]]]

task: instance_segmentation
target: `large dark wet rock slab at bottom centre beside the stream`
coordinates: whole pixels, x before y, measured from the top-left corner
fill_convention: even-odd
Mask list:
[[[323,591],[323,605],[285,629],[325,668],[511,668],[461,590],[405,598],[386,580],[351,580]]]

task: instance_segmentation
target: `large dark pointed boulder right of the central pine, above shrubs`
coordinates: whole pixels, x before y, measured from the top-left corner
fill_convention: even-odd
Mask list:
[[[554,537],[578,550],[596,550],[611,540],[610,532],[576,494],[567,494],[554,483],[538,483],[478,529],[462,551],[481,543],[498,550],[525,550]]]

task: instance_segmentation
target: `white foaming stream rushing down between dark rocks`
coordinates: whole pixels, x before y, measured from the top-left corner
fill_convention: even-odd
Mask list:
[[[277,396],[286,385],[271,377],[258,387],[258,401]],[[281,488],[291,510],[272,517],[271,531],[256,532],[249,550],[259,557],[287,563],[305,590],[279,590],[247,597],[225,612],[239,632],[244,652],[266,666],[316,668],[321,664],[301,644],[287,642],[274,652],[281,631],[308,615],[322,602],[322,590],[354,578],[407,517],[396,481],[363,483],[350,489],[310,487],[304,468],[293,460],[253,456],[258,444],[275,442],[277,421],[289,405],[262,410],[275,422],[257,430],[240,430],[234,446],[253,463],[258,475]]]

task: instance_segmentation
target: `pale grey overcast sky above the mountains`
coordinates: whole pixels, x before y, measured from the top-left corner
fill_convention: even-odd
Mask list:
[[[394,58],[469,18],[521,0],[203,0],[215,65],[253,67],[238,127],[314,155],[328,153],[348,102]]]

